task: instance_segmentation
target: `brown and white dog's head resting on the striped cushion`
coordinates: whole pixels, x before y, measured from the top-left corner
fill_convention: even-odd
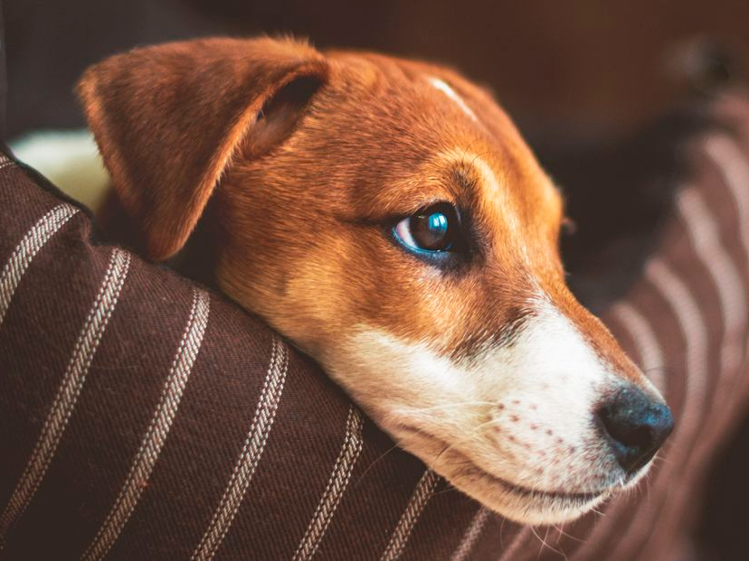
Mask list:
[[[270,39],[131,51],[80,90],[150,257],[207,212],[218,285],[456,487],[555,522],[646,472],[668,407],[565,286],[562,197],[484,90]]]

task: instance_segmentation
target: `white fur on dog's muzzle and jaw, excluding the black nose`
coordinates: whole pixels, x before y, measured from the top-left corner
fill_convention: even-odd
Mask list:
[[[625,474],[595,423],[617,376],[553,304],[533,304],[513,341],[469,360],[362,326],[323,362],[399,444],[456,487],[511,519],[540,523],[582,514]]]

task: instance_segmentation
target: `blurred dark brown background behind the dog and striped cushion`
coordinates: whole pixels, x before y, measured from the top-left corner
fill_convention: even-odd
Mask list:
[[[578,234],[565,242],[566,261],[574,288],[599,311],[639,272],[670,201],[668,192],[630,182],[648,172],[659,149],[633,139],[689,99],[749,75],[747,0],[5,0],[4,8],[10,139],[85,126],[72,93],[82,70],[140,44],[294,33],[320,48],[460,69],[496,93],[569,193]],[[695,533],[704,558],[749,557],[744,443],[749,423],[706,490]]]

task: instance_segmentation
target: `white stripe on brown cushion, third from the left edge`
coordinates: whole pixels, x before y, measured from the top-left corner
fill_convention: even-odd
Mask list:
[[[107,519],[83,554],[84,559],[101,559],[106,556],[135,510],[175,420],[187,379],[203,343],[209,310],[210,296],[202,290],[194,289],[193,304],[185,332],[177,347],[154,416],[130,466],[125,484],[109,510]]]

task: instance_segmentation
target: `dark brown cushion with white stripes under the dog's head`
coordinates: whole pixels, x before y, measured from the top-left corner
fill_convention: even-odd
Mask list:
[[[91,242],[83,211],[2,160],[0,557],[678,556],[749,395],[749,103],[710,112],[655,252],[605,316],[675,434],[648,491],[562,528],[452,490],[263,324]]]

